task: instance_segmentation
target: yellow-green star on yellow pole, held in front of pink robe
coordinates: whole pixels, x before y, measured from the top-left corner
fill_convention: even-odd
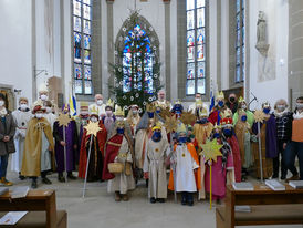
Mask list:
[[[209,205],[210,209],[212,209],[212,186],[211,186],[211,165],[212,160],[217,163],[217,157],[222,156],[222,153],[220,149],[222,148],[222,145],[218,144],[217,138],[213,138],[212,141],[207,141],[206,144],[201,145],[202,151],[200,155],[205,157],[205,162],[210,160],[209,164]]]

